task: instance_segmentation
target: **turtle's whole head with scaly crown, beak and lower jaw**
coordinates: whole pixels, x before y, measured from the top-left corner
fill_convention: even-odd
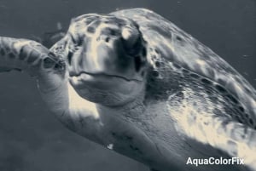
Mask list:
[[[85,14],[73,19],[67,37],[70,83],[81,97],[121,105],[142,96],[146,48],[134,21]]]

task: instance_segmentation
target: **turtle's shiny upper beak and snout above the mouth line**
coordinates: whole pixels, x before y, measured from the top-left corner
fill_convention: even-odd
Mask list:
[[[138,31],[130,28],[121,31],[102,28],[94,36],[84,38],[84,43],[68,55],[71,59],[70,76],[84,73],[143,81],[140,73],[142,48],[142,38]]]

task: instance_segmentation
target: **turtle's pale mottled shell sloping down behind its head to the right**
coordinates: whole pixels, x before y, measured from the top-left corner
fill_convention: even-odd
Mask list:
[[[148,44],[148,61],[154,75],[168,77],[166,70],[178,70],[181,75],[186,73],[226,95],[232,103],[239,105],[241,111],[250,113],[249,123],[256,126],[255,89],[218,54],[148,9],[125,9],[112,14],[137,22]]]

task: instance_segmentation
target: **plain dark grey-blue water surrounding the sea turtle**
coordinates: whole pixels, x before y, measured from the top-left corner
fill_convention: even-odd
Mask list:
[[[254,0],[0,0],[0,36],[40,37],[72,17],[148,8],[212,48],[256,87]],[[214,67],[214,66],[212,66]],[[0,171],[147,171],[67,130],[49,114],[32,77],[0,74]]]

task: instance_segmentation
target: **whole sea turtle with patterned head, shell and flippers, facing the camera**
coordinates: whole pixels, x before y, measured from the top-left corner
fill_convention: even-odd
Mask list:
[[[256,170],[254,88],[148,9],[81,15],[50,49],[1,37],[0,54],[0,71],[36,77],[67,128],[152,170]],[[189,162],[209,157],[246,167]]]

